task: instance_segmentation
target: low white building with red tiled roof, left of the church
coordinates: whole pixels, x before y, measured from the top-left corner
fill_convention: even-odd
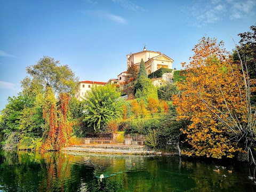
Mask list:
[[[81,81],[79,82],[78,92],[76,93],[76,98],[82,101],[84,95],[88,90],[91,90],[92,86],[103,86],[106,82],[94,82],[94,81]]]

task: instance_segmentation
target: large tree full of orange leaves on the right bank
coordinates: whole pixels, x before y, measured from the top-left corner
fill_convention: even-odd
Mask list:
[[[223,43],[218,44],[215,38],[203,37],[193,51],[191,61],[183,63],[186,80],[177,82],[181,94],[173,97],[177,119],[191,121],[181,129],[191,147],[182,153],[213,158],[233,157],[242,150],[250,153],[255,138],[255,113],[254,127],[246,131],[253,123],[246,71],[241,73],[240,66],[234,65],[223,49]],[[245,134],[252,137],[248,140]]]

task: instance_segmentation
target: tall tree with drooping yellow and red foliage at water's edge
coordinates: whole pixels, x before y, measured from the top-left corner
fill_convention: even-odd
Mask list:
[[[67,65],[59,64],[59,61],[44,56],[35,65],[27,67],[29,76],[21,82],[25,90],[36,94],[37,105],[42,107],[42,151],[60,150],[67,144],[73,130],[73,124],[67,119],[67,111],[78,78]]]

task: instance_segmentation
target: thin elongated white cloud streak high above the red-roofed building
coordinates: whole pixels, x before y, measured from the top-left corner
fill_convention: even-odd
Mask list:
[[[124,19],[123,17],[116,15],[116,14],[112,14],[112,13],[108,13],[106,11],[84,11],[83,13],[89,14],[92,17],[97,17],[100,19],[108,19],[111,21],[114,21],[116,23],[120,23],[120,24],[125,24],[127,22],[126,19]]]

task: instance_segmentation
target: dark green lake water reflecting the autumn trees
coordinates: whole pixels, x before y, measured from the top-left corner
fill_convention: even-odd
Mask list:
[[[226,166],[220,173],[215,165]],[[233,170],[228,173],[227,170]],[[100,175],[104,178],[100,181]],[[222,177],[225,174],[227,177]],[[256,191],[246,163],[170,156],[0,151],[0,191]],[[256,180],[255,180],[256,181]]]

